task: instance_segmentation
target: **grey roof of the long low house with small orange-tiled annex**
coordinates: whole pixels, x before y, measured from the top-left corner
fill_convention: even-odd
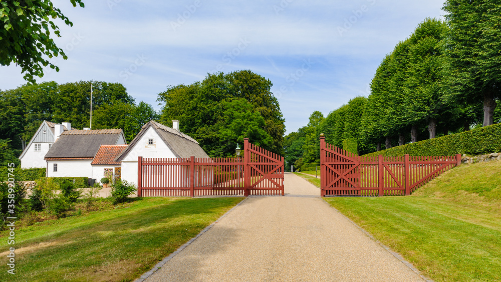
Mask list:
[[[45,158],[94,158],[101,145],[115,145],[121,135],[121,129],[68,130],[54,142]]]

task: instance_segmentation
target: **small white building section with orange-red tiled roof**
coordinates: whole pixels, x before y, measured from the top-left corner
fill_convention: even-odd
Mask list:
[[[115,161],[127,145],[101,145],[91,162],[92,178],[97,182],[103,177],[121,178],[121,163]]]

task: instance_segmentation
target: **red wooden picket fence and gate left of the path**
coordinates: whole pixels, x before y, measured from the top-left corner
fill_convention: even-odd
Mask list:
[[[138,157],[138,196],[284,195],[284,158],[244,139],[243,158]]]

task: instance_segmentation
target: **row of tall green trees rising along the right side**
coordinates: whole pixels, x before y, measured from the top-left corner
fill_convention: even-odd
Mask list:
[[[369,97],[325,119],[314,112],[308,126],[286,136],[288,164],[317,161],[320,133],[338,147],[356,140],[354,153],[364,154],[501,122],[501,6],[449,0],[443,10],[445,22],[426,19],[383,59]]]

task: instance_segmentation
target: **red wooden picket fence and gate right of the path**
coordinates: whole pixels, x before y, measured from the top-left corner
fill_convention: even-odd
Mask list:
[[[403,196],[461,164],[461,155],[361,157],[320,138],[322,196]]]

